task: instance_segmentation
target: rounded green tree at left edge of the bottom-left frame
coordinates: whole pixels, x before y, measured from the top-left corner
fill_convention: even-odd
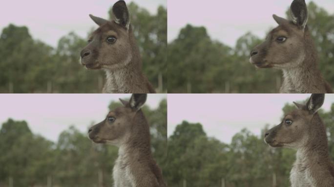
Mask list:
[[[25,121],[8,119],[0,130],[0,185],[10,177],[15,186],[44,184],[53,172],[52,146],[34,135]]]

